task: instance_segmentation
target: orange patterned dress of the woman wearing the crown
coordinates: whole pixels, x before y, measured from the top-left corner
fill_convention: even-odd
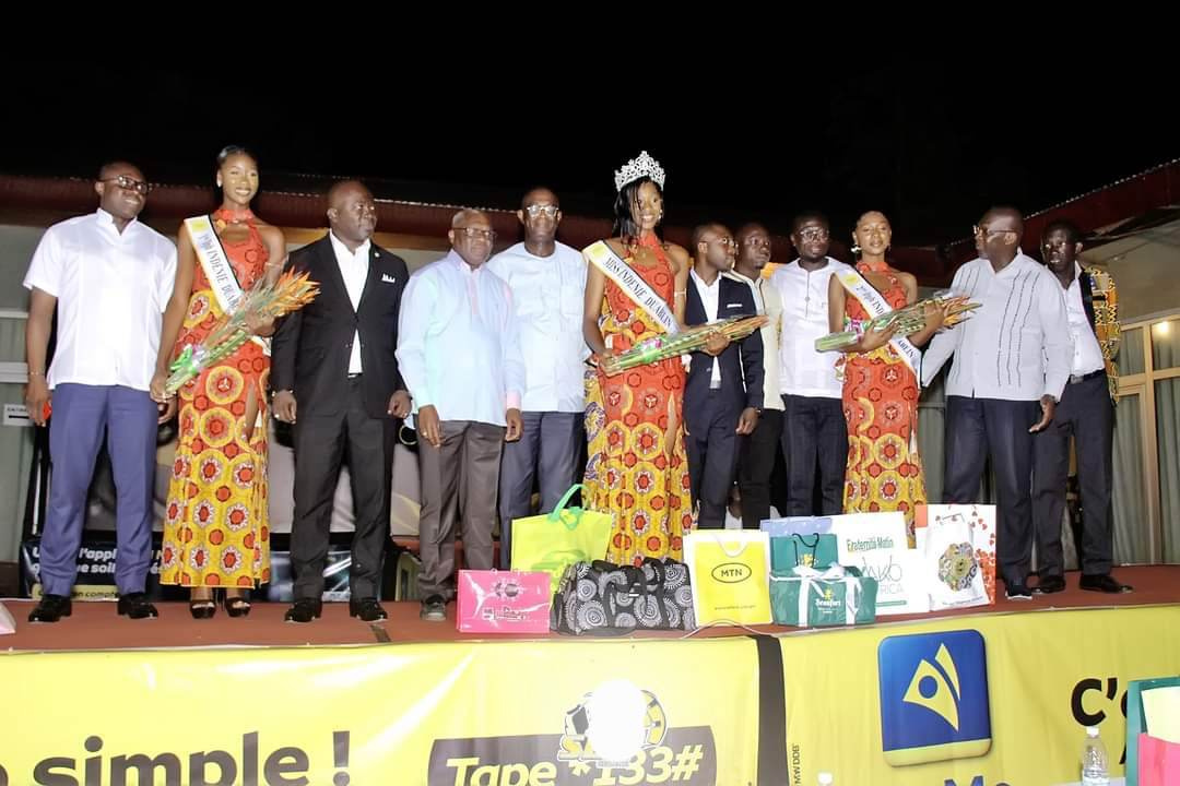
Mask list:
[[[671,260],[657,238],[641,243],[655,252],[658,264],[632,270],[670,304],[675,295]],[[616,354],[663,331],[610,279],[599,326]],[[684,365],[678,357],[614,377],[597,371],[586,377],[585,507],[614,516],[607,553],[611,562],[682,559],[683,536],[693,528],[683,398]],[[664,450],[669,405],[682,424],[670,456]]]

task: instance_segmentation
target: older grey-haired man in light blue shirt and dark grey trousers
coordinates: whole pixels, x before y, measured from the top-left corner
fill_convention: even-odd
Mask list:
[[[464,562],[493,567],[492,529],[504,442],[520,438],[524,358],[512,293],[487,269],[496,243],[487,216],[460,210],[451,252],[409,279],[398,362],[413,397],[422,488],[420,616],[446,620],[463,510]]]

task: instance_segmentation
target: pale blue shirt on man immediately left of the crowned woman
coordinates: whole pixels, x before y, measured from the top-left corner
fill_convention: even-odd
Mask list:
[[[487,269],[512,290],[520,351],[529,358],[522,405],[531,412],[585,410],[585,365],[590,355],[582,336],[586,263],[582,252],[556,243],[537,257],[517,243],[487,260]]]

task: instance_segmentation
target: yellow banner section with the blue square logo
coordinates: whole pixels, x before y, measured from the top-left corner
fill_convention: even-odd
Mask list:
[[[1180,673],[1180,606],[1047,610],[782,640],[785,784],[1076,784],[1122,774],[1130,680]]]

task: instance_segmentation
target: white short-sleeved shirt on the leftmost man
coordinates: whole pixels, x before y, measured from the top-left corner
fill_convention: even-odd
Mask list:
[[[58,299],[50,388],[76,383],[148,390],[175,283],[176,246],[140,222],[130,222],[120,233],[111,214],[98,210],[47,229],[25,288]]]

